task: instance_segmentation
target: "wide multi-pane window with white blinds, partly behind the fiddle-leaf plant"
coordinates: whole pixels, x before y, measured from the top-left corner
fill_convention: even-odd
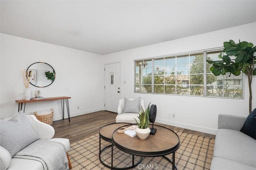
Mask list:
[[[217,51],[202,51],[135,61],[135,92],[150,94],[243,98],[243,74],[214,76],[206,59]],[[233,58],[234,59],[234,58]]]

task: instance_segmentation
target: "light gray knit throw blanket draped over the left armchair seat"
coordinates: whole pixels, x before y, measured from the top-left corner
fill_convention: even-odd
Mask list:
[[[37,140],[16,153],[13,158],[32,159],[41,162],[44,170],[68,170],[66,148],[62,143]]]

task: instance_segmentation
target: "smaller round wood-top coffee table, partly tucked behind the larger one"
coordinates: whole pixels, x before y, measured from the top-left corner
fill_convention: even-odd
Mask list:
[[[107,141],[107,142],[110,142],[112,143],[112,135],[113,135],[113,132],[116,130],[116,129],[119,129],[123,126],[127,126],[127,127],[130,127],[131,126],[131,123],[110,123],[108,125],[105,125],[103,126],[101,129],[100,129],[100,132],[99,132],[99,147],[100,147],[100,151],[99,151],[99,159],[100,159],[100,163],[104,166],[106,166],[107,168],[112,168],[111,166],[105,164],[102,160],[101,160],[101,153],[106,150],[108,147],[111,147],[112,145],[108,145],[106,147],[104,147],[103,149],[101,149],[101,139],[103,139],[104,141]],[[123,134],[125,135],[125,134]],[[128,136],[128,135],[125,135],[125,136]],[[134,166],[137,166],[138,164],[140,164],[140,162],[142,161],[142,158],[140,158],[140,160],[134,164],[134,155],[132,155],[132,166],[129,166],[129,167],[125,167],[125,168],[114,168],[116,170],[126,170],[126,169],[130,169],[130,168],[133,168]],[[113,169],[113,168],[112,168]]]

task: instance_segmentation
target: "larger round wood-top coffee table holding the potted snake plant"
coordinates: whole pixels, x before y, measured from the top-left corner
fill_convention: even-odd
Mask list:
[[[133,124],[136,125],[136,124]],[[126,125],[124,127],[129,127]],[[132,154],[135,156],[144,157],[157,157],[163,156],[172,163],[172,170],[177,169],[175,166],[175,151],[180,147],[180,139],[178,135],[166,128],[159,125],[154,125],[157,129],[155,135],[149,135],[147,139],[141,140],[137,136],[129,137],[128,135],[118,133],[116,129],[112,135],[112,158],[113,158],[113,146],[118,149]],[[172,161],[165,155],[172,153]],[[111,167],[113,167],[113,160],[111,160]]]

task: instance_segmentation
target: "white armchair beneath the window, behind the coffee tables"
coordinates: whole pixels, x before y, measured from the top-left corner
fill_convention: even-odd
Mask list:
[[[133,99],[130,99],[133,100]],[[145,110],[144,106],[144,100],[140,99],[140,107]],[[137,116],[139,116],[138,113],[122,113],[124,110],[124,99],[119,100],[118,108],[117,108],[117,116],[116,116],[116,123],[136,123],[134,118],[139,122],[139,119]]]

